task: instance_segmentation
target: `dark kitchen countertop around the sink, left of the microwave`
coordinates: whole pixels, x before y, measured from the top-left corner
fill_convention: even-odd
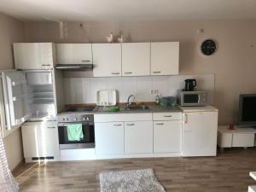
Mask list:
[[[182,109],[174,107],[162,107],[159,105],[147,105],[149,109],[131,109],[125,110],[120,107],[120,110],[117,112],[109,112],[108,107],[98,107],[94,113],[160,113],[160,112],[182,112]]]

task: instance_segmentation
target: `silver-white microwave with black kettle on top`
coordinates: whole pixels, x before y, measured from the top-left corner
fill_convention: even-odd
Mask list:
[[[180,106],[206,106],[207,92],[204,90],[178,90],[177,102]]]

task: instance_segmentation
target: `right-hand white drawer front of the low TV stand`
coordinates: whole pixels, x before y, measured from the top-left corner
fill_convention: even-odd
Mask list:
[[[254,133],[233,133],[232,147],[253,147]]]

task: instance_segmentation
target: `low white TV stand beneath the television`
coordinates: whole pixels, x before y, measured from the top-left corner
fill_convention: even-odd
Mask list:
[[[255,146],[256,129],[254,127],[234,127],[230,130],[228,125],[218,126],[218,147],[224,148],[248,148]]]

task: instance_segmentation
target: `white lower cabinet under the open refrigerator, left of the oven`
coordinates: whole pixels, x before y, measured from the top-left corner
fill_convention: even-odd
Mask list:
[[[27,122],[21,126],[24,157],[26,161],[39,157],[59,156],[56,123]]]

